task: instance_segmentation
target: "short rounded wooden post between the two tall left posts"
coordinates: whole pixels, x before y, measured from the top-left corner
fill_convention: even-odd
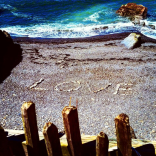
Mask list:
[[[46,123],[43,128],[43,135],[48,156],[62,156],[57,127],[51,122]]]

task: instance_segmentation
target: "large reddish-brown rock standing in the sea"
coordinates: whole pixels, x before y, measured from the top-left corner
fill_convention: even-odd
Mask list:
[[[137,5],[136,3],[127,3],[126,5],[122,5],[116,13],[120,16],[133,17],[139,15],[146,18],[147,8],[143,5]]]

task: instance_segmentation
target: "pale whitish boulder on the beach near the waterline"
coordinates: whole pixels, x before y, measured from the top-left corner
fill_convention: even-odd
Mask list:
[[[133,49],[141,44],[140,41],[141,39],[139,34],[131,33],[121,42],[121,44],[124,44],[128,49]]]

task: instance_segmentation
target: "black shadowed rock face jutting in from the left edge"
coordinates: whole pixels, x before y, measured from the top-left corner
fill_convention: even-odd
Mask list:
[[[15,44],[6,31],[0,30],[0,83],[22,60],[22,49]]]

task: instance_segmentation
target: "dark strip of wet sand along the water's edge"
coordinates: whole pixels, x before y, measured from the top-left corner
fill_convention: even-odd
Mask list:
[[[53,44],[63,44],[63,43],[74,43],[74,42],[104,42],[111,40],[122,40],[126,38],[130,33],[133,32],[124,32],[124,33],[116,33],[116,34],[108,34],[108,35],[99,35],[92,37],[84,37],[84,38],[30,38],[30,37],[12,37],[14,42],[26,42],[26,43],[53,43]],[[142,43],[152,42],[156,43],[156,39],[147,37],[139,32],[135,32],[141,35]]]

